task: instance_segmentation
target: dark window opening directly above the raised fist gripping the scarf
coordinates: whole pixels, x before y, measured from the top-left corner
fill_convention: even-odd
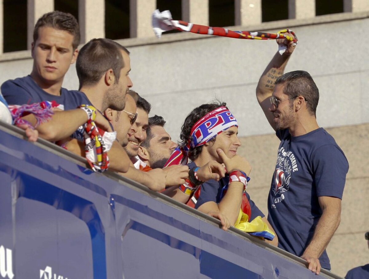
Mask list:
[[[288,19],[288,0],[262,0],[262,22]]]

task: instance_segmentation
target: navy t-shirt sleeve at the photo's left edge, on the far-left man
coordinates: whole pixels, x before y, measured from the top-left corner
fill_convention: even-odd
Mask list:
[[[1,93],[9,105],[24,105],[31,102],[32,96],[24,88],[8,80],[1,85]]]

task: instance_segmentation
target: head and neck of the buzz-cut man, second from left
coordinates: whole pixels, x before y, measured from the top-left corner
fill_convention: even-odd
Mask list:
[[[79,90],[95,108],[123,110],[125,94],[132,87],[129,51],[109,39],[92,39],[79,51],[76,63]]]

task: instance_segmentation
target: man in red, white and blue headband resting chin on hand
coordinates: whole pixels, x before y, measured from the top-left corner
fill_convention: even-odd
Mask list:
[[[237,155],[241,146],[237,137],[238,123],[225,105],[201,105],[184,120],[180,134],[182,144],[166,165],[183,164],[187,163],[187,158],[191,159],[192,162],[187,164],[189,179],[170,196],[207,214],[219,212],[243,231],[273,239],[274,232],[265,215],[245,192],[251,166]],[[203,182],[201,169],[210,162],[223,163],[228,175]],[[270,242],[277,245],[276,238]]]

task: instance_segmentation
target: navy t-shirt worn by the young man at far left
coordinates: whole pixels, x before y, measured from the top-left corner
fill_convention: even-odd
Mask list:
[[[31,78],[30,75],[23,78],[9,79],[1,85],[1,93],[9,105],[24,105],[39,103],[42,101],[55,101],[64,106],[64,110],[76,109],[80,105],[92,105],[85,93],[77,90],[61,89],[60,96],[55,96],[44,91]],[[83,126],[73,133],[72,137],[83,141]]]

